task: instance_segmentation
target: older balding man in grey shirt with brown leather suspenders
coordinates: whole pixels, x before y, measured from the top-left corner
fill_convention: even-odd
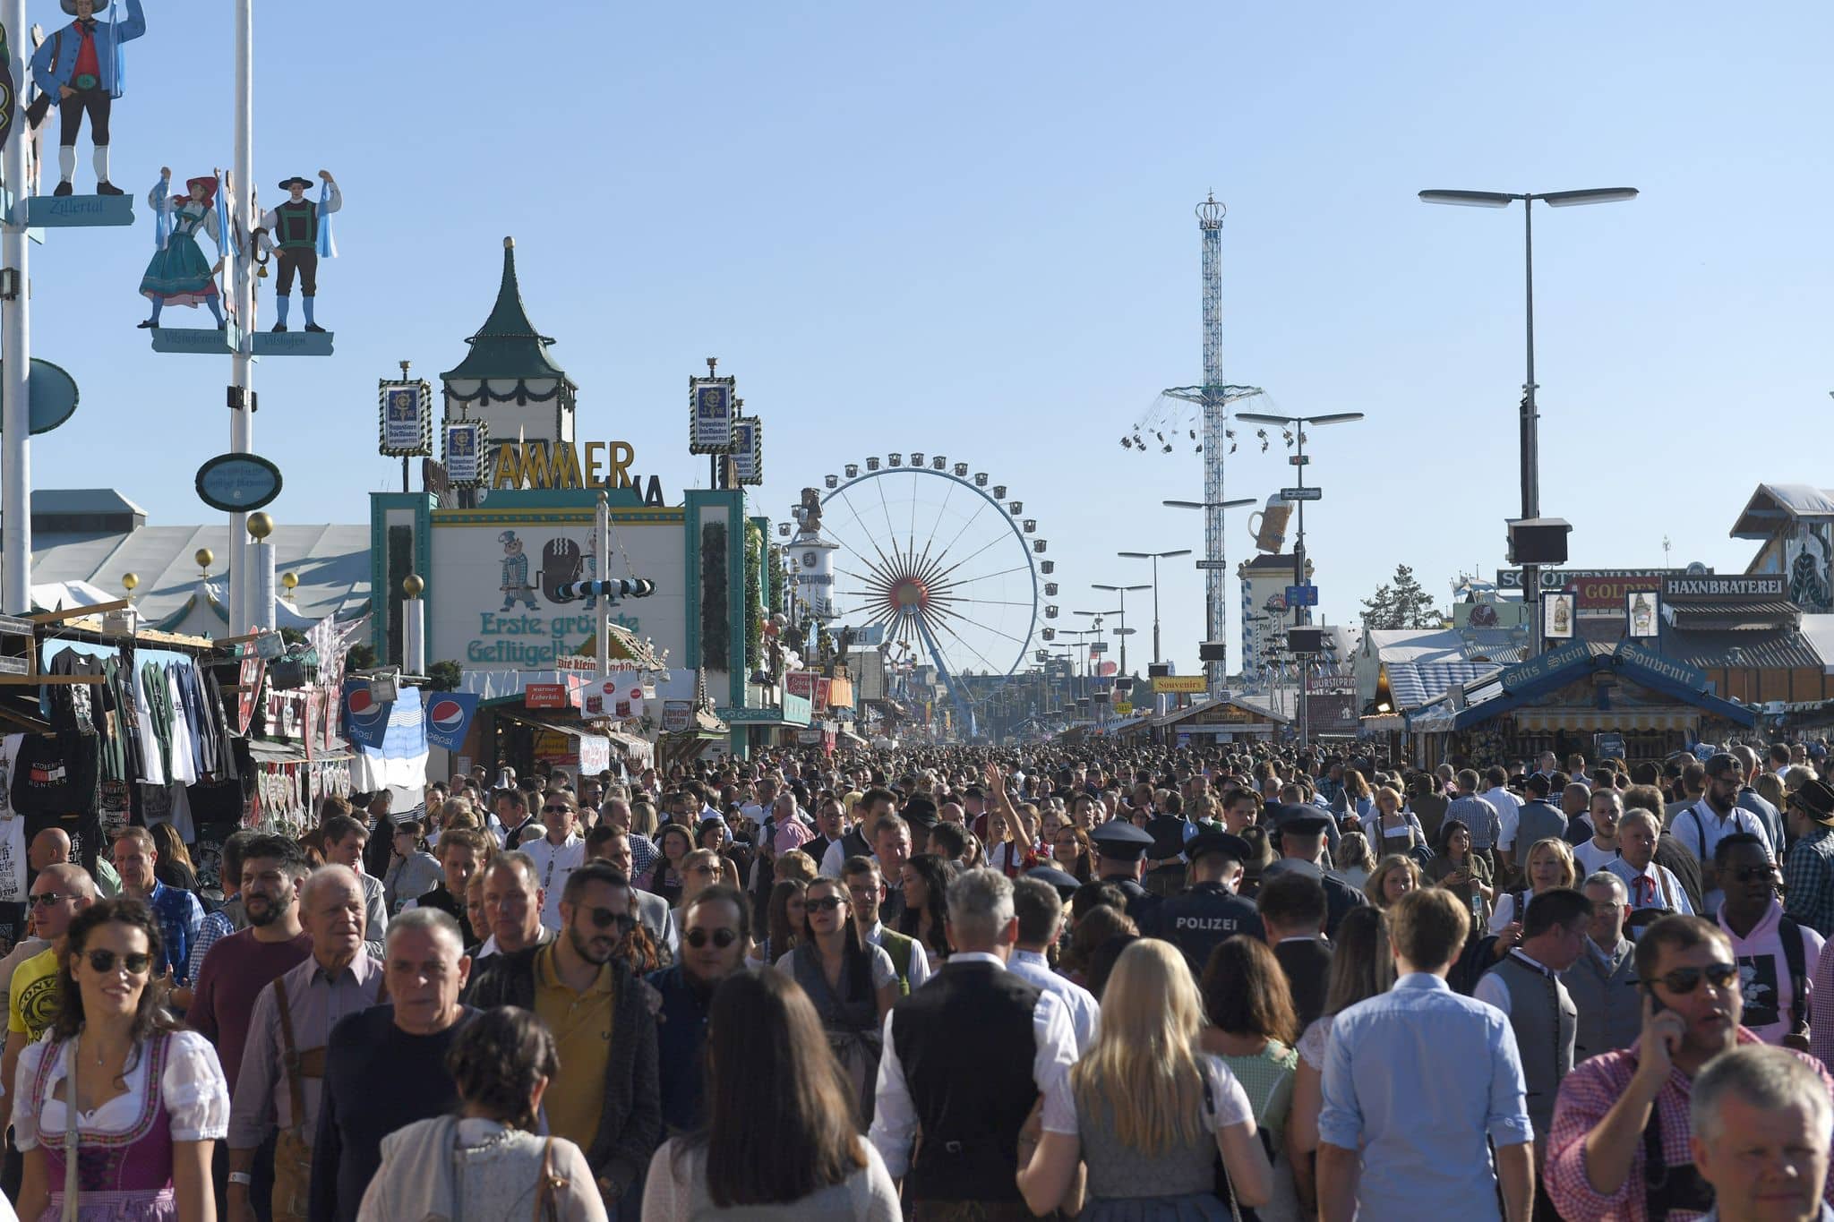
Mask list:
[[[378,1002],[381,964],[363,951],[363,887],[347,867],[314,870],[299,887],[299,920],[312,956],[260,991],[229,1107],[227,1222],[249,1222],[257,1149],[273,1149],[275,1222],[303,1222],[317,1136],[325,1044],[345,1015]],[[275,1134],[279,1127],[279,1134]]]

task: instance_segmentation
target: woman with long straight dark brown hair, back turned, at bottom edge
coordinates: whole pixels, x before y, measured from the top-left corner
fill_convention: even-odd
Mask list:
[[[899,1222],[822,1019],[787,975],[737,973],[713,991],[706,1083],[706,1127],[649,1160],[644,1222]]]

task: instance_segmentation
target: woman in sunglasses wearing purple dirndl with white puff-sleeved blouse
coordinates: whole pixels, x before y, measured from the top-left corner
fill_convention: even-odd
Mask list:
[[[57,1022],[20,1055],[13,1090],[22,1217],[215,1222],[211,1149],[227,1134],[229,1088],[209,1042],[160,1004],[160,922],[138,900],[70,922]]]

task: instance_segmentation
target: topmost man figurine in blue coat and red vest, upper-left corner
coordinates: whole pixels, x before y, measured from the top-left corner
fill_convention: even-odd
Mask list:
[[[77,20],[46,38],[31,57],[31,77],[46,97],[57,99],[62,125],[57,141],[61,181],[51,194],[72,194],[70,180],[77,172],[77,134],[84,114],[90,115],[90,139],[95,141],[95,194],[121,194],[108,181],[108,110],[121,90],[121,44],[147,33],[139,0],[123,4],[127,20],[105,24],[95,20],[95,13],[106,9],[108,0],[62,0],[64,13]]]

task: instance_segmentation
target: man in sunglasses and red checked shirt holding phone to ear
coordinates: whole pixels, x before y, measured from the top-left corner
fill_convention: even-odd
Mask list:
[[[1759,1039],[1739,1024],[1739,964],[1726,931],[1665,916],[1636,944],[1643,1031],[1583,1061],[1561,1083],[1548,1140],[1548,1196],[1564,1218],[1684,1222],[1713,1207],[1693,1163],[1693,1081],[1715,1057]],[[1801,1057],[1834,1096],[1834,1077]],[[1660,1167],[1651,1167],[1651,1152]],[[1834,1184],[1823,1189],[1827,1196]]]

